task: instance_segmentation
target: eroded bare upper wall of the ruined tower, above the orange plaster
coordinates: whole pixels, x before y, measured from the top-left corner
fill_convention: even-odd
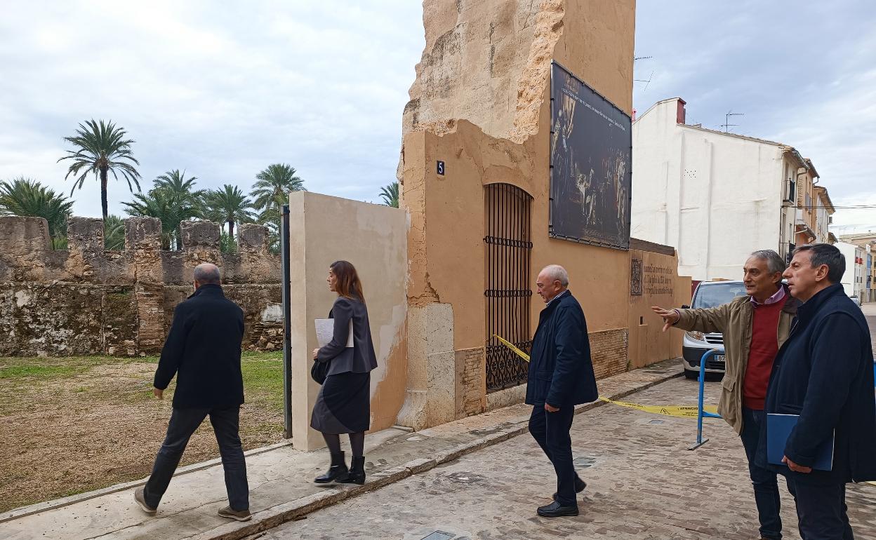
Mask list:
[[[427,0],[426,47],[408,94],[402,137],[442,135],[465,119],[522,143],[538,131],[562,0]]]

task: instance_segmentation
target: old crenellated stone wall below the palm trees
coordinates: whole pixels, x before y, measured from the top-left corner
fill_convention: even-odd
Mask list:
[[[220,226],[183,221],[180,251],[161,249],[161,222],[124,222],[124,249],[103,249],[103,222],[70,218],[68,249],[53,250],[46,220],[0,217],[0,356],[159,354],[173,309],[192,293],[194,267],[215,263],[244,309],[244,350],[282,346],[280,261],[260,225],[219,249]]]

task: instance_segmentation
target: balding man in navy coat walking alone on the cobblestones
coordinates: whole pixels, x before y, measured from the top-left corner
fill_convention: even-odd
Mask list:
[[[538,514],[578,515],[575,494],[587,484],[575,472],[569,430],[575,406],[598,397],[587,322],[562,266],[541,270],[536,285],[547,305],[535,330],[526,381],[526,403],[533,405],[529,432],[554,465],[557,486],[554,502],[540,507]]]

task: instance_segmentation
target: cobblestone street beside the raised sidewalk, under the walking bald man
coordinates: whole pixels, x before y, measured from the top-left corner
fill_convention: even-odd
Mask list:
[[[718,384],[706,384],[709,403],[717,402]],[[627,401],[693,404],[696,382],[673,379]],[[535,515],[555,491],[553,469],[533,439],[522,435],[258,537],[758,537],[745,454],[723,421],[706,420],[704,437],[710,440],[692,452],[687,448],[696,439],[695,419],[605,405],[579,414],[572,437],[576,466],[588,483],[577,517]],[[799,538],[794,503],[783,482],[781,492],[785,537]],[[876,539],[876,486],[851,485],[847,500],[855,537]]]

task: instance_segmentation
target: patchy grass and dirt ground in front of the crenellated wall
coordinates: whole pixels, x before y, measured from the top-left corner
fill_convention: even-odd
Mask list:
[[[137,480],[151,472],[174,383],[152,396],[158,358],[0,357],[0,512]],[[244,352],[244,450],[283,436],[282,354]],[[174,379],[175,382],[175,379]],[[219,457],[208,421],[180,465]]]

